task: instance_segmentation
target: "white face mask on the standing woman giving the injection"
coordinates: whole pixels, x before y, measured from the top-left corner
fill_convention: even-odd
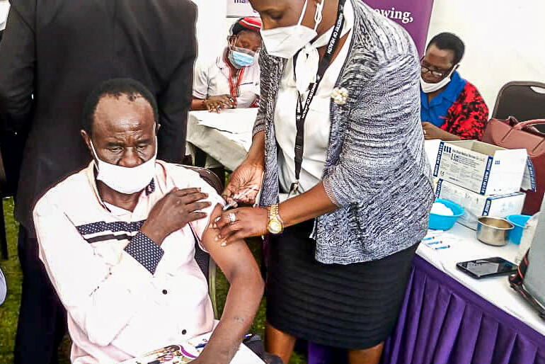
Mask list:
[[[261,29],[261,38],[269,55],[281,58],[292,58],[297,51],[302,49],[311,40],[318,36],[316,28],[322,21],[323,3],[326,0],[322,0],[318,6],[316,6],[316,13],[314,13],[314,29],[308,28],[302,25],[304,13],[309,0],[304,1],[301,16],[297,25],[285,26],[272,29]]]

